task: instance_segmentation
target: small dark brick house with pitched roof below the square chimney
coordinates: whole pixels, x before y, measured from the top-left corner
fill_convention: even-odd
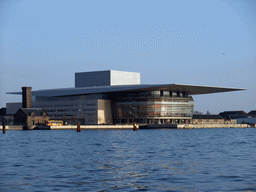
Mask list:
[[[31,128],[34,125],[43,125],[48,121],[48,113],[40,108],[20,108],[14,114],[14,124],[23,125],[24,128]]]

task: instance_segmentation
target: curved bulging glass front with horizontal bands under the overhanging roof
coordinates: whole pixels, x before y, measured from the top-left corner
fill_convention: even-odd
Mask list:
[[[120,93],[114,104],[116,123],[189,123],[194,101],[184,92],[152,91]]]

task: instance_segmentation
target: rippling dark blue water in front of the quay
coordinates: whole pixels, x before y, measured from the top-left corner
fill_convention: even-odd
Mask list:
[[[256,191],[256,129],[0,134],[0,191]]]

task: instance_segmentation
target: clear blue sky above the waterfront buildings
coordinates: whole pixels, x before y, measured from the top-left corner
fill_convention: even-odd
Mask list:
[[[256,1],[0,1],[0,107],[21,102],[6,92],[74,87],[75,72],[97,70],[246,88],[194,96],[194,110],[256,110]]]

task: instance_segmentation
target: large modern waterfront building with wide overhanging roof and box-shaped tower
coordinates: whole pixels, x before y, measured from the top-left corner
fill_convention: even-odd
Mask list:
[[[193,95],[239,90],[244,89],[140,84],[140,73],[108,70],[75,73],[74,88],[31,94],[32,108],[43,108],[50,119],[68,124],[184,124],[193,116]],[[7,103],[7,113],[14,114],[20,105]]]

